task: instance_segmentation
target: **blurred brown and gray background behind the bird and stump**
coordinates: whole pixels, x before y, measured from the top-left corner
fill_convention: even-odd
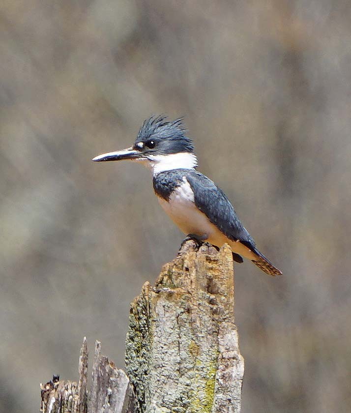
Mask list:
[[[350,412],[351,3],[2,0],[0,412],[123,367],[129,302],[182,234],[150,173],[91,157],[185,115],[199,170],[283,270],[235,265],[242,412]]]

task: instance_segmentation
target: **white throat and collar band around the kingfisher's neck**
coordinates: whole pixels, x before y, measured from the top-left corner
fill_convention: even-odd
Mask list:
[[[194,169],[198,160],[193,153],[179,152],[170,155],[147,155],[152,174],[156,175],[173,169]]]

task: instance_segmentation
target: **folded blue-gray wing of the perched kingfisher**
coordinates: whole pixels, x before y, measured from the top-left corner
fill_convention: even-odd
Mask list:
[[[209,221],[232,241],[239,239],[241,243],[255,250],[255,241],[241,224],[226,194],[208,177],[197,171],[186,174],[194,192],[195,205]]]

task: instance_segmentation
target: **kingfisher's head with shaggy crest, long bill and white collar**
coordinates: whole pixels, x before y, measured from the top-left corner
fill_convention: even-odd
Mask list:
[[[95,162],[132,160],[149,166],[154,174],[172,169],[193,169],[197,166],[194,145],[186,136],[182,118],[167,120],[165,116],[152,116],[140,128],[130,148],[95,156]]]

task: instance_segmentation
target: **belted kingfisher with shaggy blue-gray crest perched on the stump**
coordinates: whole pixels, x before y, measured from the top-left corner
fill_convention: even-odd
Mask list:
[[[227,242],[237,263],[243,262],[243,256],[266,274],[282,274],[257,249],[224,192],[196,171],[194,145],[186,135],[182,118],[170,121],[165,116],[152,116],[144,121],[131,148],[103,153],[92,160],[143,163],[152,171],[161,207],[184,234],[217,248]]]

